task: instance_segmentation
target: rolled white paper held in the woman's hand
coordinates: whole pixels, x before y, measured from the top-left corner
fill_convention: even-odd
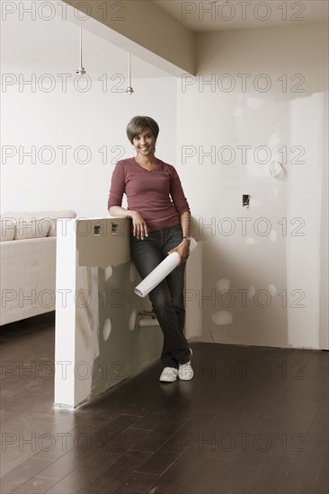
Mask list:
[[[194,251],[197,246],[196,241],[191,238],[190,243],[190,253]],[[143,281],[135,288],[135,293],[138,296],[145,297],[149,294],[151,290],[156,288],[156,286],[161,283],[161,281],[169,275],[176,268],[180,260],[180,256],[177,252],[169,254],[158,266],[156,266],[153,271],[144,278]]]

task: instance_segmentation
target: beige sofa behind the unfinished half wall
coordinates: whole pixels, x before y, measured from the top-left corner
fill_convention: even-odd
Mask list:
[[[76,212],[7,212],[0,218],[0,325],[55,310],[59,217]]]

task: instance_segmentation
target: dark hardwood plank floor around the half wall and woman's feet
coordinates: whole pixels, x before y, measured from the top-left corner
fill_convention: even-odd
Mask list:
[[[53,314],[0,340],[3,494],[329,492],[328,352],[192,343],[191,382],[157,363],[72,412]]]

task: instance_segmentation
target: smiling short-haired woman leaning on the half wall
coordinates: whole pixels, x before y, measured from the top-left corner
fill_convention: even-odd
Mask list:
[[[170,252],[178,252],[179,265],[150,294],[164,333],[160,381],[172,383],[193,376],[191,349],[183,335],[185,321],[183,283],[190,252],[190,207],[179,176],[171,164],[156,158],[159,127],[150,117],[134,117],[127,136],[137,156],[121,160],[111,179],[108,209],[111,216],[131,218],[130,252],[141,278]],[[121,207],[126,193],[128,209]]]

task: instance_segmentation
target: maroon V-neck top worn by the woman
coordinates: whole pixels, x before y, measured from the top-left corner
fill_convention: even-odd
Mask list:
[[[157,158],[150,172],[135,158],[120,160],[112,173],[108,209],[121,206],[123,194],[128,208],[138,211],[150,232],[181,224],[181,215],[190,212],[182,183],[173,165]]]

